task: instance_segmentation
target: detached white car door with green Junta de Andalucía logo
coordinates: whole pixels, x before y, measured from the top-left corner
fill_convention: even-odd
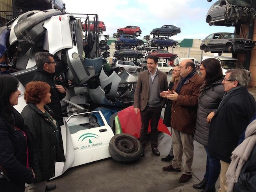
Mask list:
[[[100,111],[73,114],[66,123],[74,150],[71,167],[110,157],[108,145],[114,133]]]

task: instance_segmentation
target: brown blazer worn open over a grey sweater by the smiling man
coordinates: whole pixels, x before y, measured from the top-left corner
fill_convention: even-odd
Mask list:
[[[160,96],[162,91],[168,89],[168,82],[166,73],[158,70],[158,96],[160,98],[162,106],[165,105],[165,98]],[[139,107],[143,111],[148,104],[149,97],[149,80],[148,80],[148,70],[139,73],[139,78],[137,80],[136,89],[134,93],[134,107]]]

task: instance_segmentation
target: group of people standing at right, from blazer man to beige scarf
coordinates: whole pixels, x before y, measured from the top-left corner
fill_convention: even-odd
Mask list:
[[[157,127],[165,106],[164,123],[171,127],[172,146],[161,159],[171,161],[163,171],[181,172],[183,167],[179,182],[188,182],[196,140],[204,146],[207,159],[204,179],[193,188],[215,192],[220,176],[219,192],[255,191],[256,165],[252,158],[256,155],[256,103],[247,90],[250,74],[232,69],[223,76],[219,61],[209,58],[202,61],[200,76],[194,62],[186,59],[174,66],[167,89],[167,76],[156,68],[157,61],[157,57],[148,56],[148,70],[139,74],[135,90],[134,111],[140,111],[142,122],[141,157],[145,156],[149,120],[152,151],[160,155]]]

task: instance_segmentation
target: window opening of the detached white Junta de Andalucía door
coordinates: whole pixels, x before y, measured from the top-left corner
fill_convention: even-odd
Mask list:
[[[78,114],[78,115],[72,116],[68,120],[67,125],[69,127],[69,132],[71,135],[84,129],[91,129],[95,127],[105,126],[98,112],[89,113],[89,114],[88,113]]]

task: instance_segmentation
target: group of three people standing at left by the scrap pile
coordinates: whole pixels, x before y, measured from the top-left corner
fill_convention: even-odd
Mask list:
[[[28,105],[21,114],[13,107],[21,94],[19,81],[11,75],[0,76],[0,192],[44,192],[56,188],[46,185],[55,174],[55,162],[64,162],[60,126],[60,100],[66,90],[56,85],[54,55],[35,55],[37,73],[25,87]]]

